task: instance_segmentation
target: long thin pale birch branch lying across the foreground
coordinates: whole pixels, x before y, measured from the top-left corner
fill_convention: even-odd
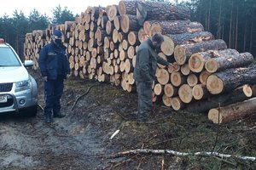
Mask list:
[[[220,158],[236,158],[241,160],[248,160],[248,161],[256,161],[256,157],[253,156],[233,156],[228,154],[220,154],[218,152],[195,152],[195,153],[187,153],[187,152],[179,152],[175,150],[127,150],[123,152],[119,152],[110,156],[111,158],[116,158],[120,156],[130,156],[130,155],[137,155],[137,154],[156,154],[156,155],[163,155],[169,154],[173,156],[216,156]]]

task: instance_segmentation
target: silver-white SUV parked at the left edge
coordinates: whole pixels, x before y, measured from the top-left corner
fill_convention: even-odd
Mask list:
[[[32,65],[32,60],[23,64],[14,48],[0,38],[0,115],[6,112],[37,115],[38,85],[26,70]]]

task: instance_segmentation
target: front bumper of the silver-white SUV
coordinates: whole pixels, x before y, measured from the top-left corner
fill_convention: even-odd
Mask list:
[[[0,103],[0,113],[15,111],[19,113],[21,109],[29,108],[33,105],[38,105],[38,97],[34,90],[27,89],[20,92],[0,93],[7,96],[7,102]]]

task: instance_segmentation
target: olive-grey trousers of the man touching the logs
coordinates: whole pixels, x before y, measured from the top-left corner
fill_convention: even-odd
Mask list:
[[[153,82],[136,82],[138,95],[137,120],[148,121],[152,109],[152,85]]]

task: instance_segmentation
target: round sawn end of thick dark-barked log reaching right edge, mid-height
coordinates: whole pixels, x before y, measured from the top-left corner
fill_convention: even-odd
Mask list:
[[[211,94],[221,94],[224,91],[224,82],[215,75],[207,78],[207,89]]]

